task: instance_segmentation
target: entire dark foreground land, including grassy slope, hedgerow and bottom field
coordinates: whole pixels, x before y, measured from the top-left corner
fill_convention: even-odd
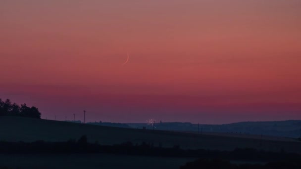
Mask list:
[[[0,118],[0,169],[301,169],[300,163],[297,138]]]

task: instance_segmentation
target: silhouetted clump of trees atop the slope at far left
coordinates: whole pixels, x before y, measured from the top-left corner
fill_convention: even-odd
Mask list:
[[[2,101],[0,99],[0,116],[22,116],[41,119],[41,113],[36,107],[27,107],[27,105],[21,104],[19,106],[16,103],[11,103],[9,99]]]

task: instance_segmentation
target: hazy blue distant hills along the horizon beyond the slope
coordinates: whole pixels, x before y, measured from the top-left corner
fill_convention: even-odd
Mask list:
[[[91,125],[153,129],[144,123],[88,123]],[[186,131],[186,132],[219,132],[234,134],[271,135],[281,137],[301,137],[301,120],[271,121],[271,122],[240,122],[225,125],[201,125],[192,123],[156,123],[156,130]]]

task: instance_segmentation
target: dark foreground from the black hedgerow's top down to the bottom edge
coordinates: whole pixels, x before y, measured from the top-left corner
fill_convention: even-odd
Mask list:
[[[0,142],[0,169],[301,169],[301,155],[256,149],[185,150],[126,142]]]

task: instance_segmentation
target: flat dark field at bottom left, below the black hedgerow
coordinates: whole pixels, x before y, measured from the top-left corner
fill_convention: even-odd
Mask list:
[[[110,154],[0,155],[0,167],[20,169],[178,169],[192,158]]]

